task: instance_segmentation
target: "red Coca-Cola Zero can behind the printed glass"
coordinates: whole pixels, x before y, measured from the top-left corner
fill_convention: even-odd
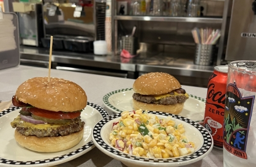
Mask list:
[[[223,122],[225,110],[225,97],[227,90],[228,65],[214,67],[214,72],[209,77],[204,127],[213,136],[216,149],[223,149]]]

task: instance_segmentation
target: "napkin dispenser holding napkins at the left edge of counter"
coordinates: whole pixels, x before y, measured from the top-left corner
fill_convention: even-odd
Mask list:
[[[4,13],[0,7],[0,70],[20,64],[18,17]]]

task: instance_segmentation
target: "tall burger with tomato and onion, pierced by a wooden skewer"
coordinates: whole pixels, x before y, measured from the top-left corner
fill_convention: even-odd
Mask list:
[[[20,146],[37,152],[70,149],[83,138],[85,91],[72,81],[47,77],[22,83],[12,97],[20,114],[10,123]]]

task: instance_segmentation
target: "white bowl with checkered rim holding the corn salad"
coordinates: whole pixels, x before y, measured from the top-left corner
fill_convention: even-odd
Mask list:
[[[167,116],[172,116],[173,121],[175,121],[176,124],[183,124],[186,130],[184,135],[187,137],[187,139],[189,139],[189,141],[193,141],[195,143],[195,152],[190,155],[175,158],[146,158],[126,154],[118,149],[115,149],[115,147],[111,146],[109,135],[113,122],[119,121],[121,113],[113,114],[105,119],[102,119],[102,121],[99,121],[92,129],[92,141],[99,150],[130,167],[170,167],[188,165],[206,157],[206,155],[208,155],[213,149],[212,136],[200,124],[174,114],[162,113],[158,111],[148,111],[148,113],[157,114],[159,119],[165,119]]]

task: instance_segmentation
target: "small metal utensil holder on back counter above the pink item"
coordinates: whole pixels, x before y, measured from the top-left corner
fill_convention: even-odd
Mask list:
[[[129,51],[131,55],[137,54],[138,38],[132,36],[122,36],[122,49]]]

